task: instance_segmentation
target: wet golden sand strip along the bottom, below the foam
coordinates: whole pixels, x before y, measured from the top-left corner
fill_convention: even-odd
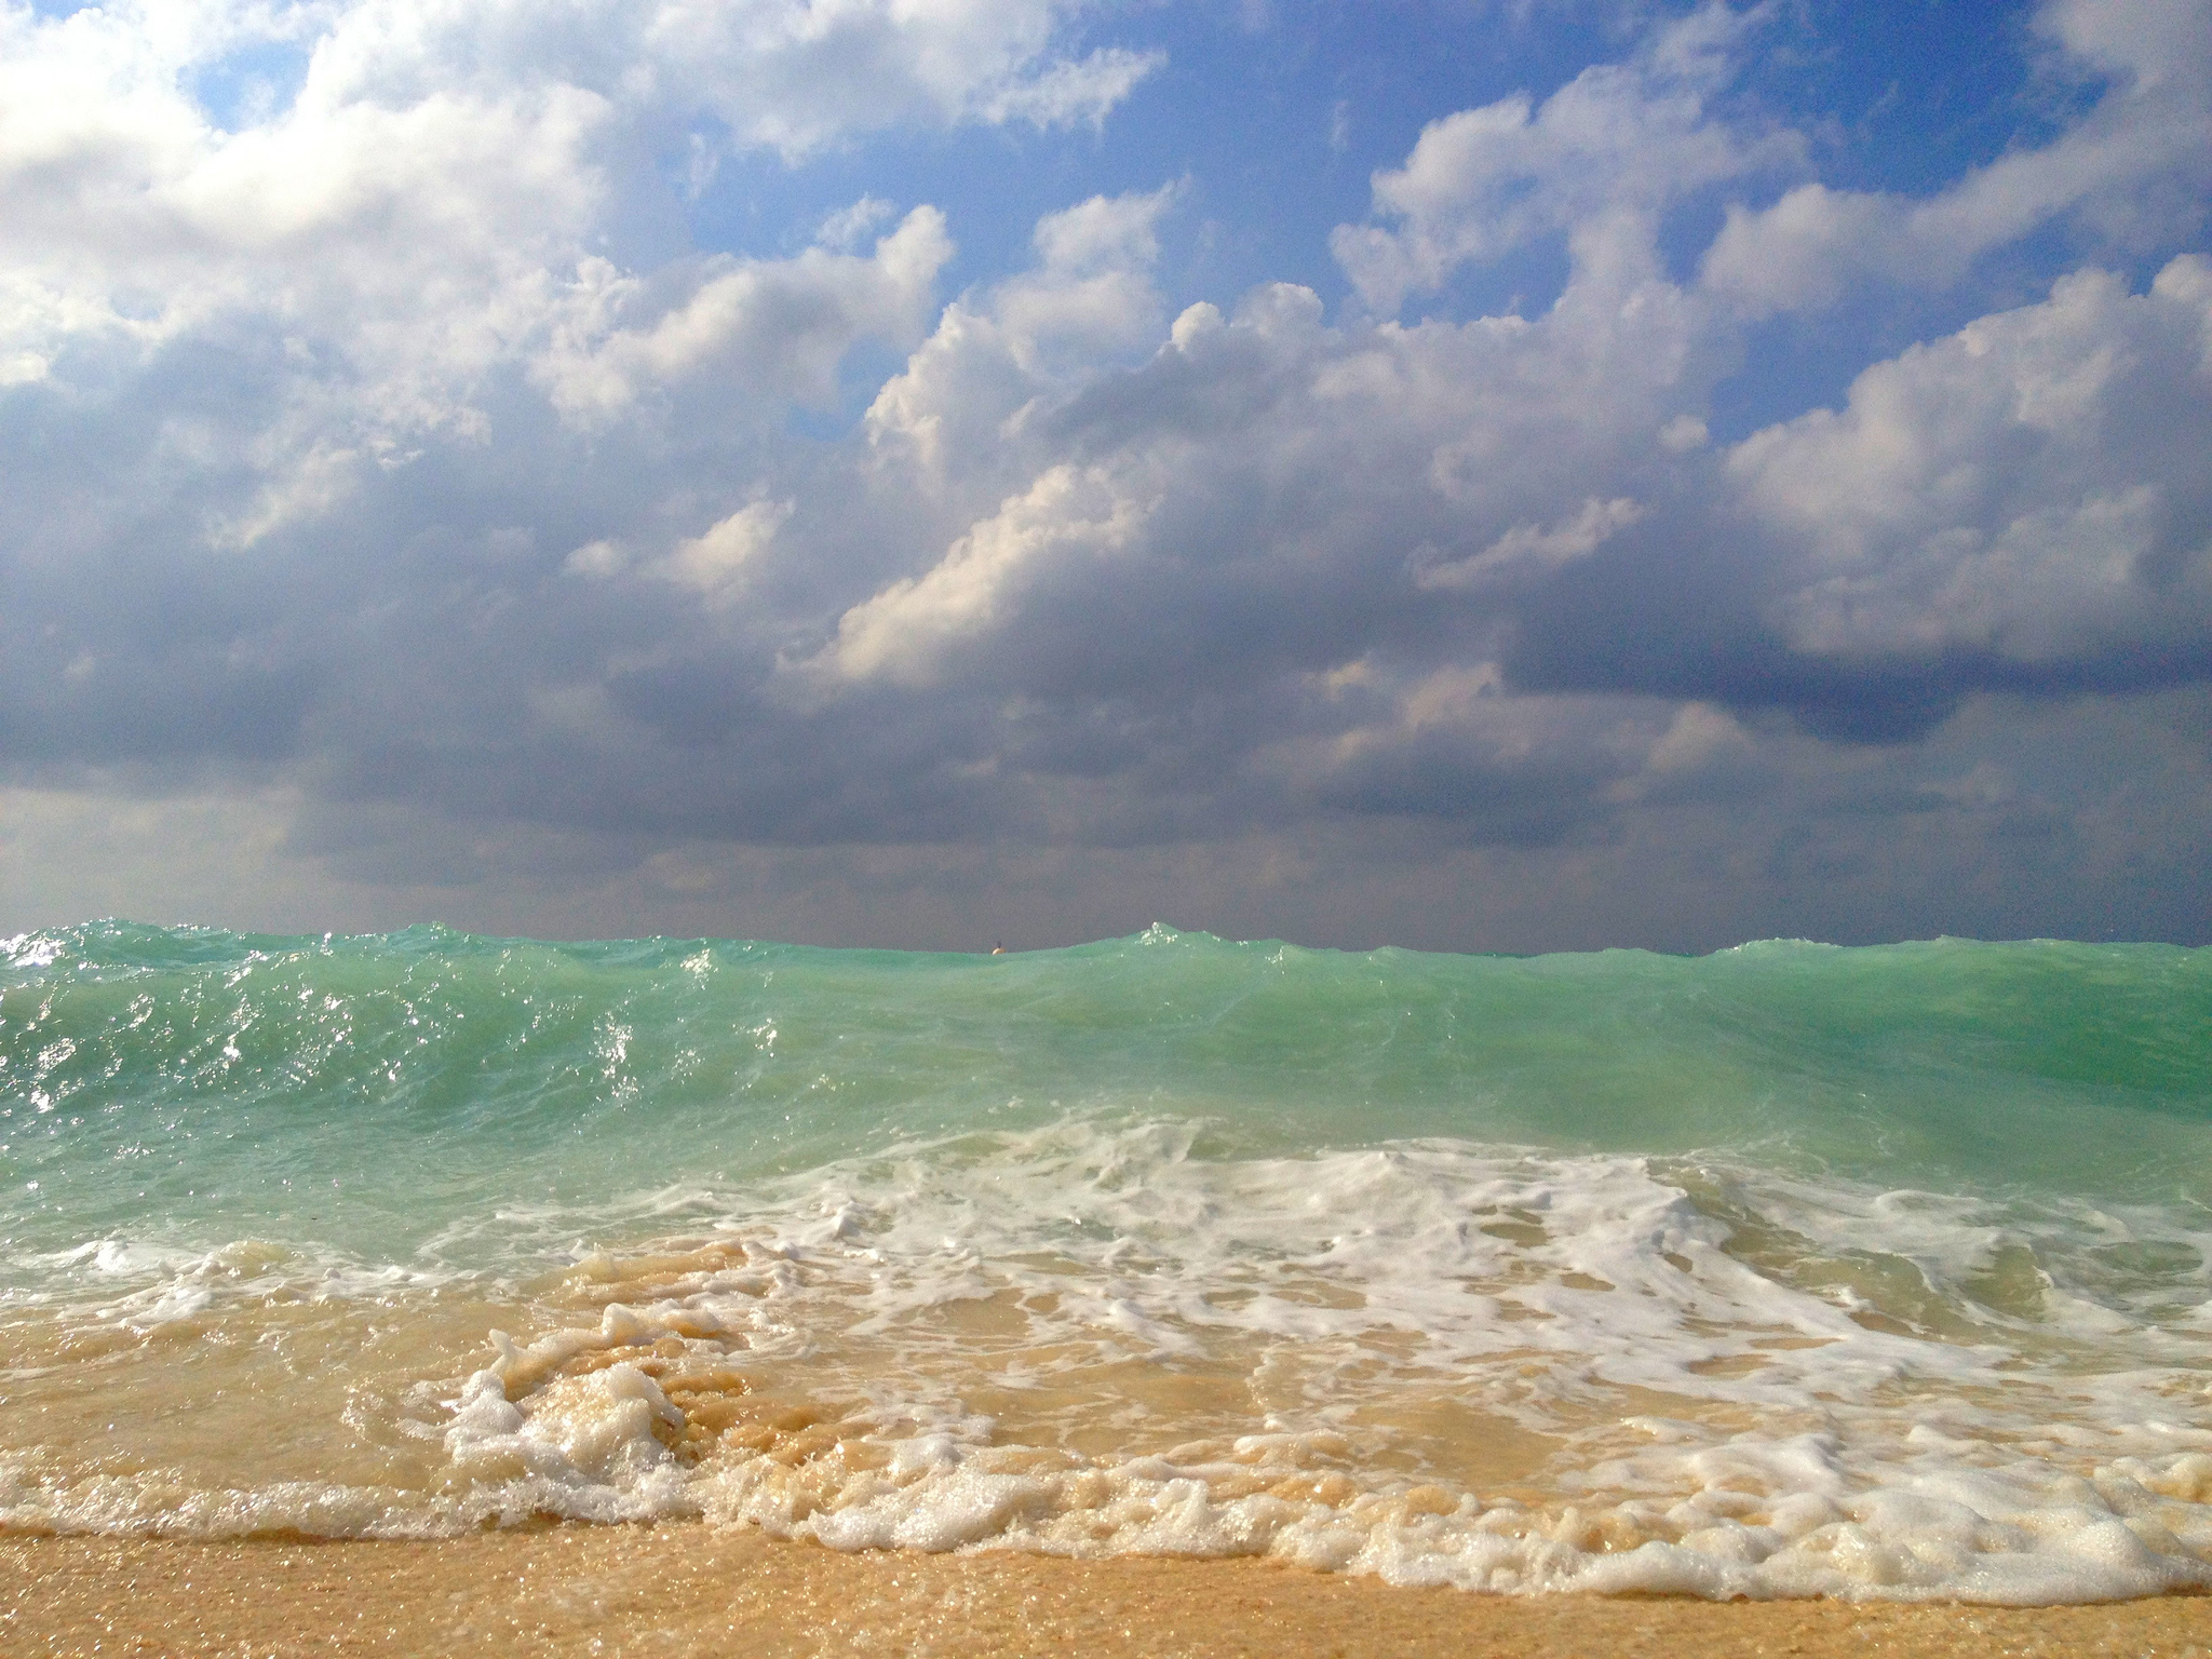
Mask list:
[[[1398,1590],[1272,1562],[838,1555],[701,1524],[434,1544],[0,1535],[0,1652],[2212,1655],[2212,1599],[2088,1608]]]

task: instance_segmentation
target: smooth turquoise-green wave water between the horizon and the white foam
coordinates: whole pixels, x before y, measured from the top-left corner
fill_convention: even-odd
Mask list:
[[[1223,1152],[1451,1135],[2212,1197],[2212,953],[2163,945],[1469,958],[1155,929],[975,958],[100,922],[20,940],[0,984],[0,1225],[33,1248],[246,1223],[392,1252],[467,1206],[1093,1110],[1203,1119]]]

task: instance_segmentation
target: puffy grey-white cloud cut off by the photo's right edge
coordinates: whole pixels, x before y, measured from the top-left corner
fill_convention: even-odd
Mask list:
[[[1728,458],[1814,653],[2024,664],[2212,637],[2212,263],[2101,272],[1867,369]]]

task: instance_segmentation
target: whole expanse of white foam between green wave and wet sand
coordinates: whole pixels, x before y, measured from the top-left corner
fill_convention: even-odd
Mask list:
[[[438,1491],[164,1506],[18,1475],[0,1522],[703,1513],[834,1548],[1265,1553],[1515,1593],[2212,1584],[2194,1217],[1449,1141],[1221,1161],[1197,1135],[1066,1121],[639,1194],[633,1221],[717,1221],[659,1263],[573,1252],[546,1334],[495,1338],[429,1413]],[[690,1396],[648,1349],[836,1402],[836,1433],[679,1455]],[[1486,1480],[1451,1422],[1553,1451]]]

